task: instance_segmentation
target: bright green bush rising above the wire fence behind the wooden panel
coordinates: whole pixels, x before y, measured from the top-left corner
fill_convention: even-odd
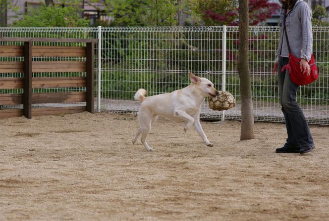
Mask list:
[[[79,7],[72,5],[65,7],[42,5],[13,24],[16,27],[84,27],[88,25],[89,20],[81,18]]]

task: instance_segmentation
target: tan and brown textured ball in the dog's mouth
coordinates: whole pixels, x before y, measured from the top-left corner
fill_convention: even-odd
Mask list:
[[[213,110],[223,111],[235,106],[235,99],[230,92],[219,90],[219,94],[209,99],[209,107]]]

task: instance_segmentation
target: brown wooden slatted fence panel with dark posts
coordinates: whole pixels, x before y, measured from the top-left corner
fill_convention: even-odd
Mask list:
[[[92,39],[3,38],[4,42],[24,45],[0,45],[0,57],[23,57],[24,61],[1,61],[0,73],[23,73],[23,78],[0,78],[0,89],[23,88],[23,93],[0,94],[0,105],[23,104],[23,109],[2,109],[0,118],[24,115],[94,113],[94,44]],[[37,46],[32,42],[85,43],[86,46]],[[32,57],[82,57],[86,61],[33,61]],[[49,60],[49,59],[48,59]],[[32,78],[32,73],[86,72],[86,77]],[[79,92],[32,93],[32,88],[80,88]],[[32,104],[86,102],[86,106],[32,108]]]

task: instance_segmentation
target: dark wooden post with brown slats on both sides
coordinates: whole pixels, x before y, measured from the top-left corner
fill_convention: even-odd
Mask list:
[[[24,42],[23,115],[32,118],[32,42]]]

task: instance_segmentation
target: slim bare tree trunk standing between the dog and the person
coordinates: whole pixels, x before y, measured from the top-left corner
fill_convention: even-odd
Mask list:
[[[251,93],[248,51],[248,0],[239,0],[239,54],[238,72],[241,98],[241,134],[240,140],[254,138],[254,113]]]

